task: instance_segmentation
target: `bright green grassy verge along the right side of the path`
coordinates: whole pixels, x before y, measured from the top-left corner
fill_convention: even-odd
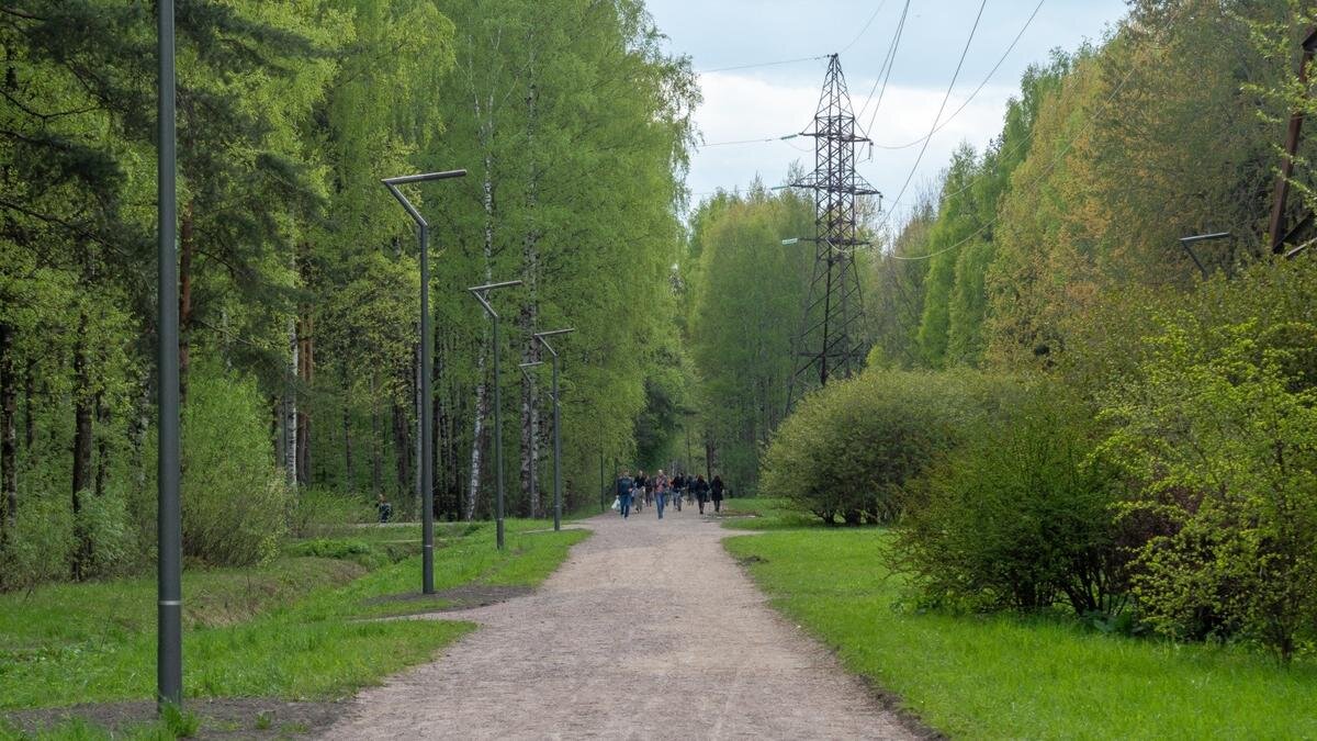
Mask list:
[[[951,736],[1313,738],[1317,666],[1242,649],[1105,636],[1063,620],[897,609],[882,530],[727,541],[773,604],[851,671]]]

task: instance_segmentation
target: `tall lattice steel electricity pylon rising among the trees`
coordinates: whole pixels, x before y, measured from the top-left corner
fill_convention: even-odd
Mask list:
[[[814,171],[790,183],[814,191],[814,276],[795,334],[786,403],[790,407],[805,392],[827,385],[830,377],[847,377],[864,367],[864,319],[860,276],[855,253],[869,243],[860,239],[856,200],[880,195],[855,173],[855,145],[869,138],[857,131],[851,94],[836,54],[828,59],[823,95],[814,113]]]

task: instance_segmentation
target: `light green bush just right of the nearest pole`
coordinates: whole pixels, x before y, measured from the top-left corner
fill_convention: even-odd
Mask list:
[[[292,500],[265,417],[252,381],[191,374],[182,440],[184,556],[249,566],[278,554]]]

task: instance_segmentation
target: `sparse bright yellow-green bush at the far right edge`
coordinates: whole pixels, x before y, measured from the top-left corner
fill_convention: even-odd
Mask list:
[[[1134,589],[1166,634],[1288,659],[1317,638],[1317,324],[1163,322],[1105,411],[1125,516],[1155,525]]]

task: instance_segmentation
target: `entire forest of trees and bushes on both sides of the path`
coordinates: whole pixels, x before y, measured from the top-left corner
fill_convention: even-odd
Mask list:
[[[985,148],[863,204],[867,368],[789,409],[809,194],[698,203],[698,76],[640,0],[180,3],[183,542],[278,552],[309,513],[419,513],[431,220],[435,508],[566,508],[620,465],[720,472],[894,527],[921,604],[1065,605],[1173,637],[1317,637],[1314,145],[1296,0],[1135,0],[1033,66]],[[107,44],[112,40],[112,44]],[[154,559],[153,13],[0,11],[0,591]],[[780,173],[784,183],[798,173]],[[776,175],[773,175],[776,177]],[[1181,244],[1195,235],[1223,239]],[[1281,252],[1274,257],[1274,240]],[[1122,617],[1125,616],[1125,617]],[[1133,625],[1133,624],[1131,624]],[[1133,629],[1133,628],[1131,628]]]

